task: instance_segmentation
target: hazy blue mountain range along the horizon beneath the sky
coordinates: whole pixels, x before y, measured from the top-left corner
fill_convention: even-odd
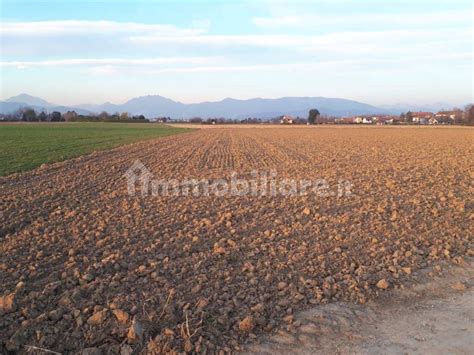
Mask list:
[[[278,99],[255,98],[237,100],[227,98],[221,101],[184,104],[159,95],[148,95],[133,98],[123,104],[104,103],[100,105],[84,104],[62,106],[50,103],[39,97],[20,94],[0,101],[0,113],[11,113],[21,107],[31,107],[36,111],[75,110],[78,114],[128,112],[132,115],[144,115],[147,118],[171,117],[188,119],[192,117],[224,117],[233,119],[273,118],[284,114],[306,117],[308,111],[317,108],[321,114],[328,116],[354,116],[362,114],[400,114],[413,110],[408,105],[376,107],[366,103],[326,97],[282,97]],[[446,108],[451,108],[446,106]],[[429,107],[424,110],[432,111]]]

